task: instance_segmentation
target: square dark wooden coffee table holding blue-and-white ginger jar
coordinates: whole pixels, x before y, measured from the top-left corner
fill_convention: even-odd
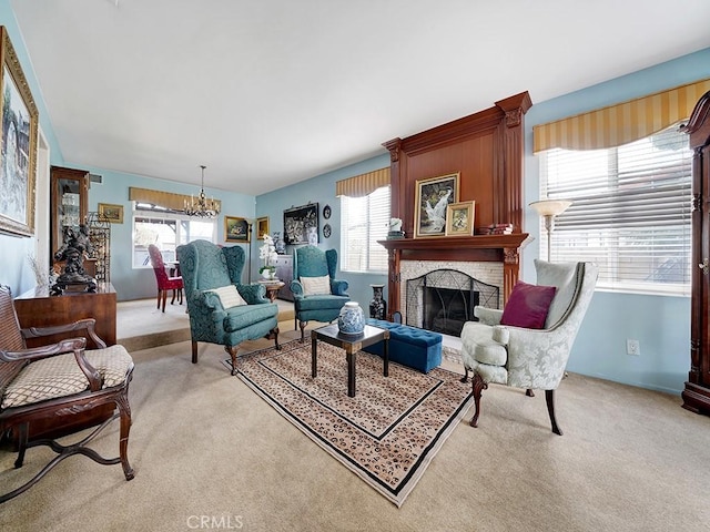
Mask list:
[[[337,328],[337,324],[326,325],[320,329],[311,331],[311,376],[317,377],[318,374],[318,340],[331,344],[335,347],[345,349],[347,358],[347,396],[355,397],[355,359],[357,351],[363,347],[372,346],[378,341],[385,342],[383,372],[385,377],[389,376],[389,330],[365,326],[362,335],[343,335]]]

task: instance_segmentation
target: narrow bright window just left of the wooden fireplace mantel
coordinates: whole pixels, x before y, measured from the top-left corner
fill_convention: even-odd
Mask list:
[[[387,249],[377,241],[389,231],[389,186],[362,197],[341,196],[341,269],[386,273]]]

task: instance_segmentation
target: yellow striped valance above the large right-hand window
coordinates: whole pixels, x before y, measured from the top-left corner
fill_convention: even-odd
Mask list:
[[[554,147],[600,150],[638,141],[688,119],[710,91],[710,80],[697,81],[629,102],[532,127],[534,152]]]

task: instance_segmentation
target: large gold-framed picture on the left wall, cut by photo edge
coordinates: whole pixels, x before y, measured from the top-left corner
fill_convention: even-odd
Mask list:
[[[0,231],[34,234],[38,112],[8,30],[0,27]]]

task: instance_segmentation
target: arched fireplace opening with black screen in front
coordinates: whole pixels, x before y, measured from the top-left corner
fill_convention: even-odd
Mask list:
[[[456,269],[436,269],[406,282],[406,324],[460,336],[476,321],[474,307],[499,308],[499,288]]]

